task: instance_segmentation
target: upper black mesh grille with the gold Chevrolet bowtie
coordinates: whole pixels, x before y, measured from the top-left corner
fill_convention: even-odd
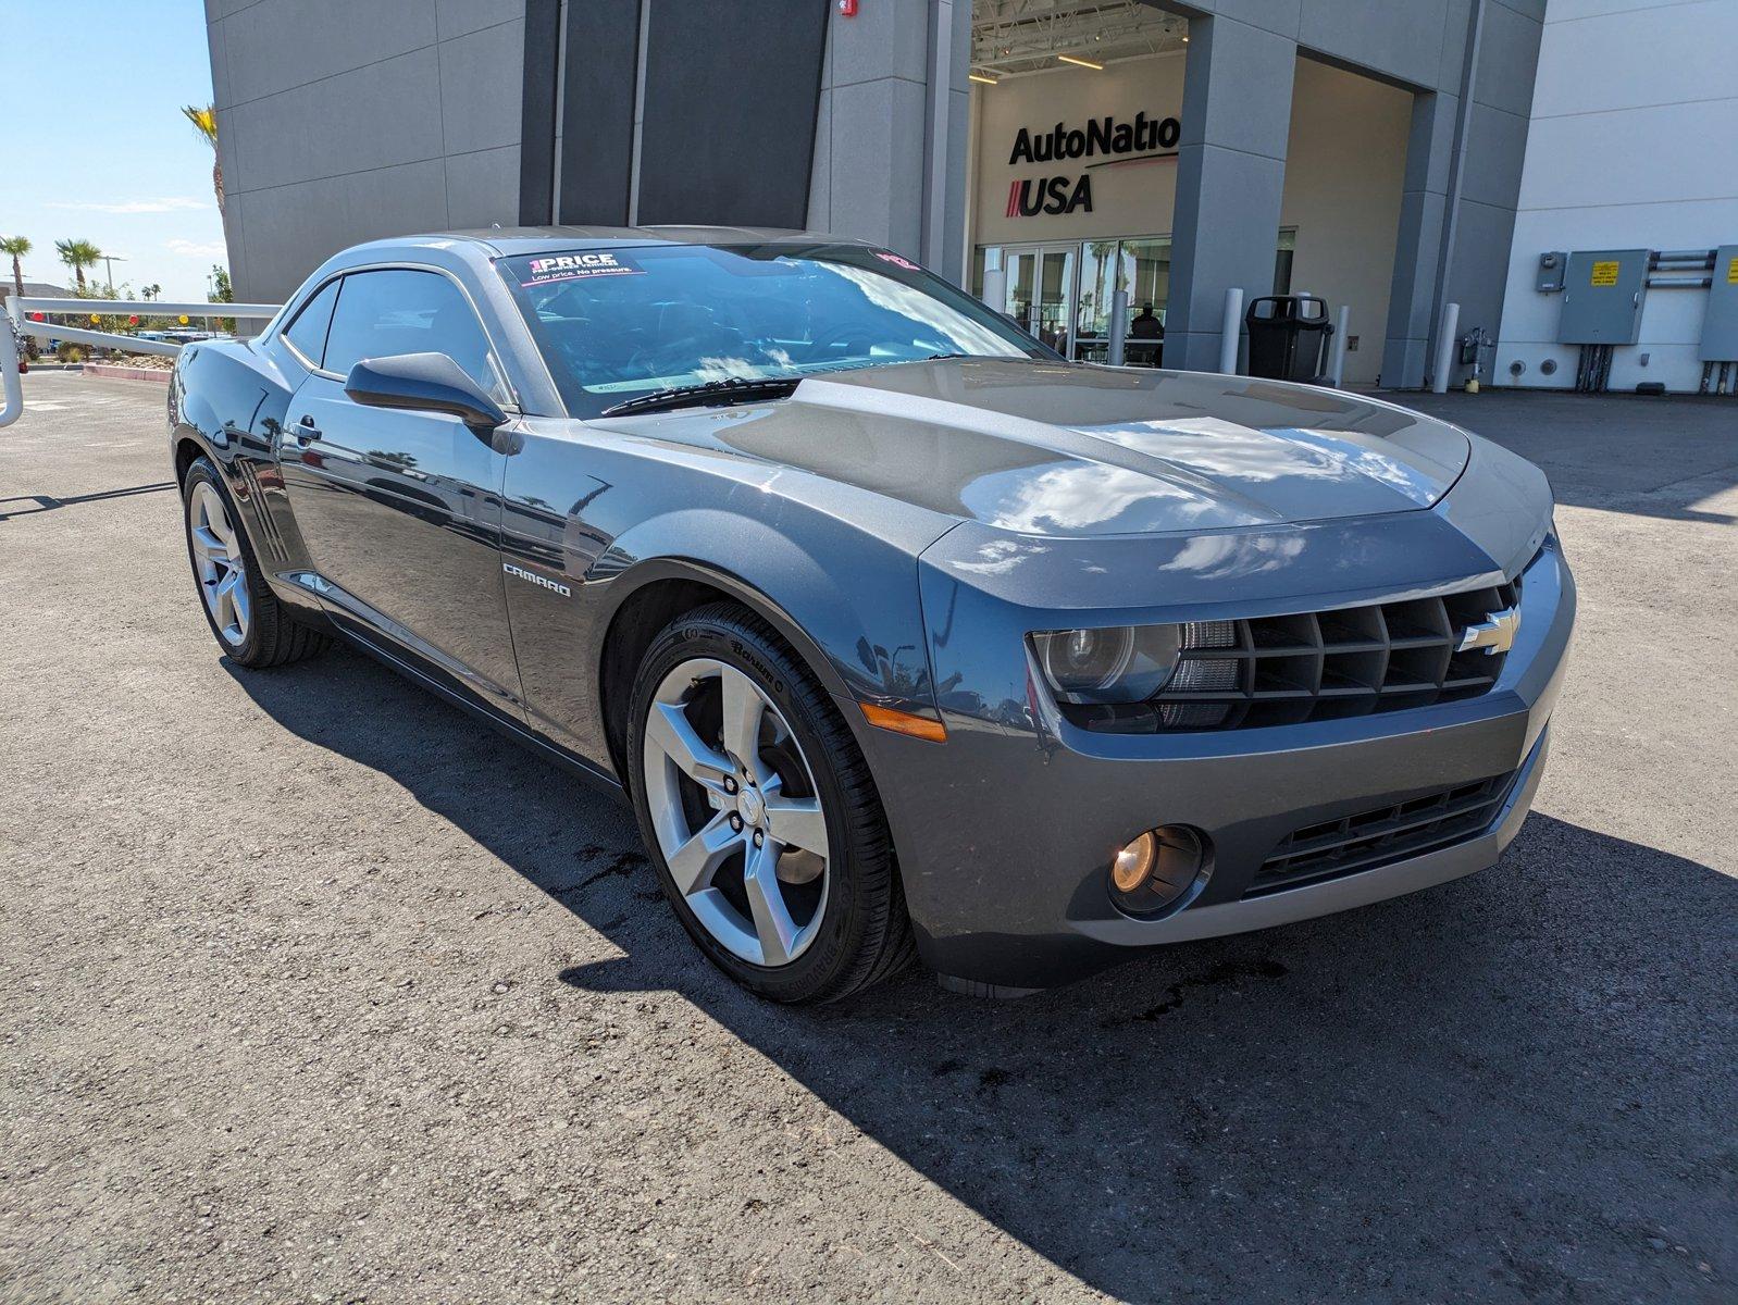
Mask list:
[[[1488,589],[1250,620],[1192,620],[1170,683],[1135,705],[1074,707],[1088,730],[1250,730],[1429,707],[1486,693],[1507,653],[1458,652],[1469,626],[1517,606]]]

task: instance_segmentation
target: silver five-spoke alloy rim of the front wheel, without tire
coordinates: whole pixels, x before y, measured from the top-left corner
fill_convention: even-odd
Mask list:
[[[713,659],[673,669],[647,712],[641,773],[659,850],[706,931],[751,964],[789,964],[827,907],[827,815],[789,721]]]

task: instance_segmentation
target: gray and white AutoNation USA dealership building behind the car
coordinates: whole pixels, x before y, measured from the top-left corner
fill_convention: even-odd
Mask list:
[[[1476,361],[1486,382],[1568,386],[1589,348],[1564,341],[1569,304],[1590,295],[1552,288],[1542,255],[1616,250],[1648,257],[1611,388],[1693,389],[1717,247],[1738,242],[1729,0],[207,12],[247,299],[408,231],[810,228],[921,259],[1076,358],[1107,354],[1123,290],[1149,320],[1131,339],[1163,330],[1130,361],[1213,368],[1236,288],[1343,308],[1350,386],[1425,384],[1444,304],[1451,382]],[[1662,271],[1660,252],[1681,264]],[[1625,295],[1632,273],[1629,257]]]

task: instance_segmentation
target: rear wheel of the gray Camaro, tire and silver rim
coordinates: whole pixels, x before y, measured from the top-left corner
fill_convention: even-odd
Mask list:
[[[271,593],[236,521],[229,488],[209,459],[188,467],[181,500],[193,579],[222,650],[249,667],[285,666],[323,650],[327,636],[299,624]]]

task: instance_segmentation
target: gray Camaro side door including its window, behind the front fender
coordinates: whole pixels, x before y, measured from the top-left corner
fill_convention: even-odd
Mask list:
[[[405,353],[443,353],[507,400],[455,280],[421,268],[348,273],[322,358],[290,400],[285,495],[335,619],[520,716],[501,570],[506,455],[459,417],[370,408],[344,393],[363,358]]]

